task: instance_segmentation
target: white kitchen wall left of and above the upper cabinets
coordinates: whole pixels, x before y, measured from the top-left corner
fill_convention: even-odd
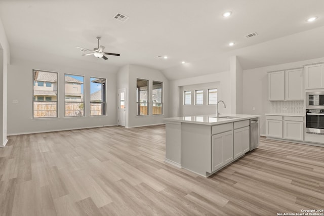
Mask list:
[[[250,70],[244,70],[242,76],[242,112],[243,114],[261,115],[260,133],[265,135],[265,114],[270,111],[268,101],[268,76],[267,72],[302,67],[304,64],[323,62],[324,58],[310,59],[287,64],[272,65]],[[255,110],[253,110],[255,107]]]

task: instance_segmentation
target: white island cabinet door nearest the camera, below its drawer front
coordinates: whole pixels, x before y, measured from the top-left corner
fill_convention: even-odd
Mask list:
[[[212,136],[212,171],[233,160],[233,131]]]

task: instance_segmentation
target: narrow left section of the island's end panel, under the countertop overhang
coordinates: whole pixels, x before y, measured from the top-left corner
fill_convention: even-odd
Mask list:
[[[181,122],[166,121],[165,161],[181,167]]]

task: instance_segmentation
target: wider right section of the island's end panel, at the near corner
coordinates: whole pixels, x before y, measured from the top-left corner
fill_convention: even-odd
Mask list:
[[[181,165],[202,176],[212,170],[211,126],[182,123]]]

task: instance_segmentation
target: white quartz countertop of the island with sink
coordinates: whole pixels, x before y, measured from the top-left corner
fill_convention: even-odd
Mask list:
[[[182,117],[171,117],[164,118],[166,122],[184,122],[184,123],[194,123],[194,124],[206,124],[206,125],[216,125],[229,123],[234,121],[247,120],[251,118],[259,118],[260,115],[243,115],[243,114],[221,114],[219,117],[232,116],[235,118],[216,118],[216,114],[210,115],[193,115],[193,116],[182,116]]]

